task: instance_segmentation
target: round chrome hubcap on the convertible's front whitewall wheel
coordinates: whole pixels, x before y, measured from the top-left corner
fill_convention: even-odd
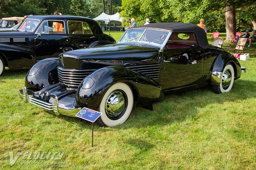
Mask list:
[[[112,119],[119,119],[126,110],[127,97],[122,91],[113,91],[107,98],[105,112]]]

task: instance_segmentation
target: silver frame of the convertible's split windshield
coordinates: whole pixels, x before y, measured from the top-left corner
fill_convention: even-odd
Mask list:
[[[143,31],[143,33],[140,35],[139,39],[138,40],[132,40],[132,41],[120,41],[123,39],[123,37],[125,37],[125,34],[127,34],[127,31],[136,31],[137,29],[145,29]],[[161,30],[161,29],[155,29],[155,28],[137,28],[137,29],[128,29],[125,31],[125,33],[122,35],[122,37],[120,38],[120,40],[117,42],[118,44],[123,44],[123,43],[143,43],[143,44],[149,44],[149,45],[156,45],[158,47],[160,47],[161,49],[164,47],[164,45],[167,43],[167,41],[169,40],[172,32],[171,31],[168,31],[168,30]],[[165,31],[165,32],[168,32],[165,40],[163,41],[162,44],[158,44],[158,43],[155,43],[155,42],[147,42],[147,41],[142,41],[142,37],[143,35],[145,34],[145,32],[147,30],[156,30],[156,31]]]

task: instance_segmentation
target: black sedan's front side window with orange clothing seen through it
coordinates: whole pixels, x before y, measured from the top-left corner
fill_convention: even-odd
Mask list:
[[[64,21],[44,21],[37,32],[40,34],[65,34]]]

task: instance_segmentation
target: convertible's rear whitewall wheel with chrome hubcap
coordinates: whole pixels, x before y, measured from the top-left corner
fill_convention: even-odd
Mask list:
[[[234,78],[234,68],[231,64],[227,64],[224,68],[223,75],[221,77],[221,83],[219,85],[213,85],[213,91],[216,94],[229,92],[233,86]]]

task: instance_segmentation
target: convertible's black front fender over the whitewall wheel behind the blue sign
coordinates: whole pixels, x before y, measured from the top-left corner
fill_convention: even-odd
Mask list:
[[[127,83],[133,90],[137,106],[150,105],[163,99],[161,86],[153,79],[124,67],[105,67],[88,75],[76,94],[76,107],[87,106],[99,110],[108,88],[116,82]]]

